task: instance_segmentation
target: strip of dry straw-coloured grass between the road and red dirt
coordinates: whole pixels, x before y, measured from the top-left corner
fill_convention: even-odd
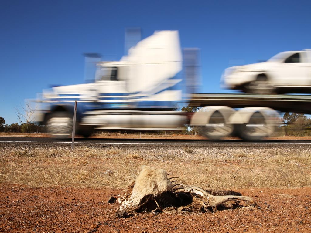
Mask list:
[[[185,184],[213,188],[311,186],[311,154],[270,149],[224,153],[180,148],[0,148],[0,182],[32,187],[124,188],[141,165],[166,169]],[[106,170],[113,173],[105,175]]]

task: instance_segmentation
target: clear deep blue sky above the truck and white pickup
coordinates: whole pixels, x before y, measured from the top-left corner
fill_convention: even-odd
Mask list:
[[[14,107],[49,85],[83,83],[82,53],[103,60],[124,54],[124,30],[179,30],[183,48],[201,49],[204,93],[220,89],[234,63],[267,60],[311,48],[311,1],[1,1],[0,116],[17,121]],[[234,65],[234,64],[233,64]]]

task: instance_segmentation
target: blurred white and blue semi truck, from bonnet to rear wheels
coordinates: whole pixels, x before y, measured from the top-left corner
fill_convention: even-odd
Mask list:
[[[185,124],[200,127],[213,140],[229,135],[262,140],[272,135],[280,124],[273,108],[279,102],[256,106],[265,102],[262,95],[255,95],[254,101],[232,105],[232,96],[193,94],[197,62],[192,52],[182,53],[178,31],[157,31],[120,61],[97,62],[93,82],[44,91],[35,121],[54,137],[68,138],[77,100],[76,133],[85,137],[93,130],[182,130]],[[186,105],[202,108],[194,113],[178,111],[178,106]]]

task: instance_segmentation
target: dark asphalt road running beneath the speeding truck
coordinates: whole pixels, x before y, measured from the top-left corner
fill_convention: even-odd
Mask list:
[[[54,138],[33,137],[0,137],[0,146],[23,145],[23,146],[58,146],[69,147],[71,139],[57,140]],[[242,140],[211,141],[202,139],[75,139],[75,146],[92,147],[283,147],[283,146],[311,146],[310,140],[265,140],[262,142],[245,142]]]

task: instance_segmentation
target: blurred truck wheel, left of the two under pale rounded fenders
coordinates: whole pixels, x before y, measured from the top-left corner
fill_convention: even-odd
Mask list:
[[[201,126],[201,133],[211,140],[220,140],[233,131],[233,125],[227,124],[219,111],[215,111],[205,126]]]

